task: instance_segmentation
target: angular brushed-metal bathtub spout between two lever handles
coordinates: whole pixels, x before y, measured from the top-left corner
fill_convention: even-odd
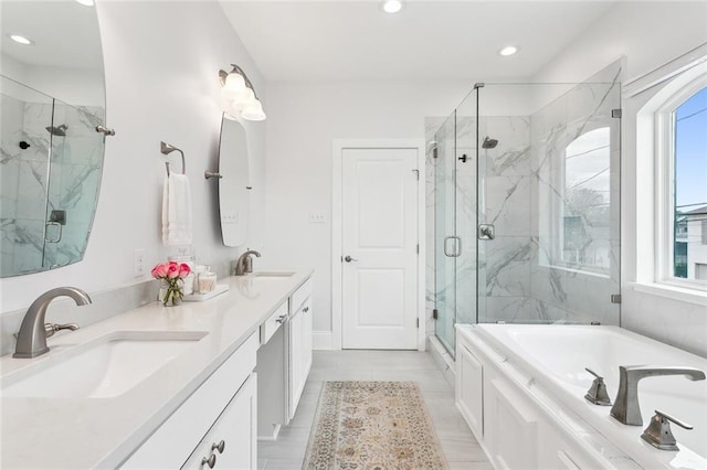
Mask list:
[[[619,393],[614,406],[611,407],[611,416],[624,425],[643,425],[639,406],[639,381],[658,375],[685,375],[690,381],[705,380],[705,373],[694,367],[620,365]]]

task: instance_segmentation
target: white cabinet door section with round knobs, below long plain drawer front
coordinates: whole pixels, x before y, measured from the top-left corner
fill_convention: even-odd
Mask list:
[[[252,374],[207,432],[182,469],[257,468],[256,378]],[[219,445],[223,441],[223,452]]]

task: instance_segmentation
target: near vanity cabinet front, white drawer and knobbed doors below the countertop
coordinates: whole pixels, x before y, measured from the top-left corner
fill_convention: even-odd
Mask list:
[[[123,463],[125,469],[255,469],[260,334],[249,339]],[[221,440],[223,453],[219,453]],[[215,458],[212,458],[212,455]],[[202,464],[202,459],[207,462]]]

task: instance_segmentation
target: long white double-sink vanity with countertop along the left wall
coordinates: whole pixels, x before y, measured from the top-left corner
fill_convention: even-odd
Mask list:
[[[152,302],[3,356],[2,467],[256,468],[258,414],[287,424],[312,365],[310,276],[231,277],[208,301]]]

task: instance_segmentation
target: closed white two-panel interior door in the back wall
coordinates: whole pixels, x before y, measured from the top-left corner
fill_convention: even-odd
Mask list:
[[[344,349],[418,348],[418,150],[341,150]]]

